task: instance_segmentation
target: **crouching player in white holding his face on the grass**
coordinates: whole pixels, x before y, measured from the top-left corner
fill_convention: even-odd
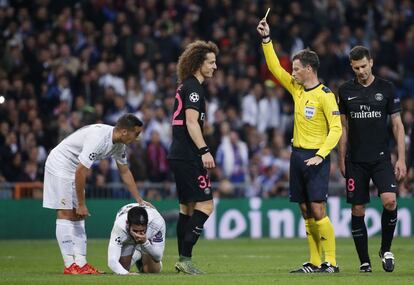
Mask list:
[[[116,215],[108,246],[108,266],[116,274],[130,273],[136,264],[142,273],[159,273],[165,247],[165,221],[160,213],[137,203]]]

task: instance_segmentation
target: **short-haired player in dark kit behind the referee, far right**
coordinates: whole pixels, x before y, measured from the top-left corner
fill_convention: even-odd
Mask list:
[[[346,178],[347,201],[352,204],[352,236],[361,262],[360,272],[371,272],[368,236],[364,222],[369,202],[369,181],[378,188],[384,206],[380,257],[385,271],[394,270],[391,243],[397,224],[397,180],[407,172],[404,126],[400,100],[394,85],[372,74],[373,60],[363,46],[354,47],[349,59],[355,79],[339,88],[339,110],[343,133],[339,141],[340,169]],[[397,143],[398,160],[393,167],[389,151],[387,118]]]

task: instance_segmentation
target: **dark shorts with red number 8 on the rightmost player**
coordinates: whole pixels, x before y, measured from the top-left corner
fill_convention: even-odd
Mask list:
[[[376,162],[346,161],[346,200],[349,204],[363,205],[370,201],[369,181],[378,188],[378,195],[384,192],[397,193],[398,185],[394,169],[389,160]]]

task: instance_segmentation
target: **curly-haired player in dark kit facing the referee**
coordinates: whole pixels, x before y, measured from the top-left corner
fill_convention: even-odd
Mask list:
[[[215,163],[204,137],[206,114],[205,91],[201,85],[211,78],[216,66],[217,46],[195,41],[187,46],[178,60],[179,86],[172,118],[173,141],[168,154],[174,173],[180,215],[177,223],[179,260],[177,271],[203,273],[191,261],[204,223],[213,211],[213,196],[207,169]]]

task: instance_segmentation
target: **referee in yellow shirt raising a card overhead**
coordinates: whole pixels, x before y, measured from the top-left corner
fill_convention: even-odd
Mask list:
[[[299,203],[305,219],[310,260],[291,273],[336,273],[335,233],[326,215],[330,159],[342,133],[335,95],[319,82],[319,58],[310,50],[293,57],[292,75],[282,68],[265,19],[257,26],[266,63],[289,91],[295,104],[293,151],[290,158],[290,201]],[[321,261],[324,251],[325,262]]]

